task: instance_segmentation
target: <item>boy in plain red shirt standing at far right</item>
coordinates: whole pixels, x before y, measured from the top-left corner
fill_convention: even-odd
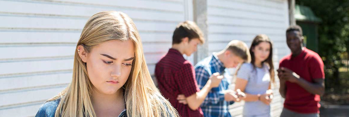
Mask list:
[[[303,47],[302,28],[286,31],[291,54],[280,60],[280,94],[285,98],[280,117],[319,117],[320,95],[325,93],[324,63],[320,56]]]

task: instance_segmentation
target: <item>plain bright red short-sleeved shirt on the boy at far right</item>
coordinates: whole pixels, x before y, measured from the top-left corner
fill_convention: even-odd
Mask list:
[[[296,57],[292,54],[280,60],[279,67],[286,67],[308,82],[325,79],[324,63],[318,53],[306,49]],[[296,83],[286,82],[284,108],[302,114],[319,113],[320,96],[307,92]]]

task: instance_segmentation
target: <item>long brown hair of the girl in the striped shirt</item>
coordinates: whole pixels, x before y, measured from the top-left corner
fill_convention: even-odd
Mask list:
[[[270,44],[270,53],[269,56],[266,60],[262,61],[262,65],[267,63],[270,67],[269,69],[269,74],[270,74],[270,81],[275,82],[275,72],[274,72],[274,64],[273,64],[273,42],[270,41],[269,37],[265,34],[259,34],[256,37],[254,37],[251,47],[250,47],[250,53],[251,53],[251,63],[253,67],[255,68],[256,66],[254,65],[255,62],[255,57],[254,57],[254,52],[252,51],[255,46],[260,44],[261,42],[268,42]]]

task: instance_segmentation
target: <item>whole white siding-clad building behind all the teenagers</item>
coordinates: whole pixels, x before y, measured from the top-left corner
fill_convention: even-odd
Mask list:
[[[40,105],[67,87],[84,24],[106,10],[133,19],[152,76],[156,62],[171,47],[172,31],[185,20],[206,24],[200,27],[206,32],[207,51],[190,57],[193,63],[232,39],[250,45],[257,34],[267,34],[274,42],[276,68],[290,53],[285,42],[288,0],[1,0],[0,117],[35,116]],[[274,116],[279,116],[283,103],[277,87]],[[242,105],[232,105],[231,114],[241,116]]]

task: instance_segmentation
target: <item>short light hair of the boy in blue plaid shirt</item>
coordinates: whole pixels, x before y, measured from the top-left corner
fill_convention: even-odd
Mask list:
[[[239,40],[230,41],[224,51],[231,51],[236,56],[242,58],[245,62],[251,61],[250,51],[245,42]]]

